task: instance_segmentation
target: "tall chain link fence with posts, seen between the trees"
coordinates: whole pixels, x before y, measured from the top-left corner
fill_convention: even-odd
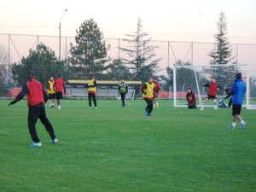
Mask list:
[[[61,39],[61,50],[59,49]],[[119,57],[129,57],[122,52],[121,48],[129,48],[127,39],[124,38],[104,38],[109,46],[108,56],[112,59]],[[0,33],[0,44],[6,49],[8,59],[1,61],[0,65],[5,68],[5,84],[11,81],[11,65],[19,63],[22,57],[26,57],[29,49],[35,49],[38,44],[43,43],[55,51],[55,56],[61,55],[61,60],[69,56],[70,44],[75,44],[74,37],[57,37],[44,35],[21,35]],[[209,65],[211,57],[208,55],[216,49],[217,44],[203,42],[180,42],[180,41],[158,41],[151,40],[150,45],[157,46],[155,58],[161,58],[159,74],[166,75],[166,67],[173,67],[176,61],[192,63],[194,66]],[[234,62],[247,64],[250,67],[250,74],[256,77],[256,44],[230,44]],[[61,52],[60,52],[61,51]],[[126,54],[126,55],[125,55]],[[66,79],[67,80],[67,79]],[[102,79],[104,80],[104,79]],[[1,82],[3,84],[3,82]]]

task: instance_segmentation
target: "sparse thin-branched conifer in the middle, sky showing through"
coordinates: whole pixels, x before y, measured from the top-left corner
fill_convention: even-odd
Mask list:
[[[153,59],[155,56],[154,51],[158,47],[149,45],[152,38],[147,38],[148,33],[143,32],[142,20],[140,18],[137,21],[137,32],[126,34],[126,36],[130,38],[127,42],[131,46],[129,48],[119,47],[120,50],[125,52],[125,55],[128,55],[126,58],[121,57],[120,59],[129,67],[132,79],[140,79],[145,82],[158,71],[157,65],[161,58]]]

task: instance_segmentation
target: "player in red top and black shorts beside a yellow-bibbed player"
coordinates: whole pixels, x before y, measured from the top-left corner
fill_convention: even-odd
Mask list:
[[[54,83],[55,89],[55,97],[58,104],[58,109],[61,109],[61,99],[63,97],[63,92],[66,94],[66,85],[63,79],[61,79],[61,74],[59,74],[58,78],[55,79]]]

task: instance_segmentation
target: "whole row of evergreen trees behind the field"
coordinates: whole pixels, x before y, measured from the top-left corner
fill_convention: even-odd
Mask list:
[[[231,55],[229,40],[227,38],[227,21],[224,12],[220,12],[217,22],[218,34],[216,39],[217,48],[212,49],[208,54],[210,65],[232,63],[234,56]],[[147,81],[148,78],[156,76],[160,72],[161,58],[156,57],[157,46],[151,45],[152,38],[148,32],[143,32],[142,20],[137,20],[137,30],[131,34],[126,34],[127,47],[119,47],[124,52],[123,57],[110,58],[108,50],[111,49],[106,44],[103,32],[93,19],[84,20],[76,30],[75,44],[70,43],[70,56],[67,60],[58,60],[55,51],[46,44],[40,43],[36,49],[29,49],[29,54],[22,57],[19,63],[13,63],[11,67],[12,79],[18,84],[26,82],[26,73],[32,70],[37,79],[44,84],[49,77],[56,77],[61,74],[64,79],[88,79],[92,74],[96,79],[104,80],[141,80]],[[1,61],[1,55],[0,55]],[[173,65],[183,66],[192,65],[185,61],[176,61]],[[1,67],[0,67],[1,69]],[[182,69],[181,69],[182,70]],[[186,69],[189,70],[189,69]],[[221,77],[230,77],[230,71],[218,73]],[[3,70],[2,70],[3,72]],[[160,75],[162,86],[166,89],[172,85],[173,71],[171,67],[166,67],[167,75]],[[191,73],[192,74],[192,73]],[[3,73],[0,72],[0,79]],[[189,77],[188,77],[189,78]]]

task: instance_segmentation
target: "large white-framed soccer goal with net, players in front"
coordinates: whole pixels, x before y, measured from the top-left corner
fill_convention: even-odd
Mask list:
[[[201,107],[202,102],[207,96],[207,84],[212,78],[217,80],[221,89],[218,91],[217,100],[223,99],[226,95],[226,89],[230,89],[236,73],[242,73],[243,80],[247,84],[247,92],[244,97],[245,108],[255,108],[255,84],[250,83],[250,73],[247,64],[224,64],[208,66],[175,66],[173,68],[173,104],[174,107],[188,107],[186,93],[191,88],[195,93],[196,105]],[[229,103],[230,98],[224,100]],[[205,107],[213,107],[212,102],[207,102]]]

